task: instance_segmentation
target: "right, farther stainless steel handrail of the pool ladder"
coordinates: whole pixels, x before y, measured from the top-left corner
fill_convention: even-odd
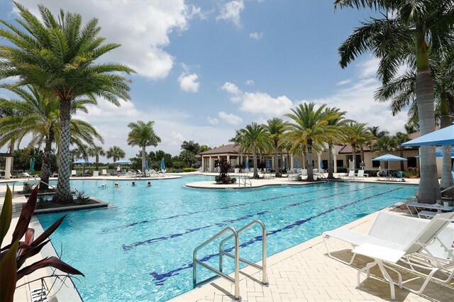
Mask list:
[[[262,223],[262,221],[260,221],[260,220],[254,220],[253,222],[248,223],[248,225],[243,226],[243,228],[240,228],[237,231],[237,233],[239,234],[239,233],[243,232],[243,230],[246,230],[256,224],[259,224],[262,227],[262,266],[255,264],[253,262],[250,262],[249,260],[246,260],[243,258],[239,258],[239,261],[243,262],[245,264],[249,264],[250,266],[253,266],[257,269],[261,269],[262,270],[262,284],[267,285],[268,284],[268,281],[267,281],[267,228],[265,227],[265,224]],[[228,257],[233,258],[238,255],[237,247],[235,247],[235,255],[232,255],[231,253],[225,252],[223,250],[223,244],[226,243],[228,240],[230,240],[232,237],[233,237],[233,235],[230,235],[230,236],[226,237],[225,239],[223,239],[221,241],[221,243],[219,243],[219,271],[221,271],[221,272],[222,272],[222,267],[223,267],[222,256],[226,255]]]

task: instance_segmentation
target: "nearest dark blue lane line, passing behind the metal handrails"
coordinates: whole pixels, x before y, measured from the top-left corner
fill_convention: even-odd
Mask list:
[[[392,191],[397,191],[397,190],[400,190],[400,189],[402,189],[402,188],[392,189],[390,191],[385,191],[385,192],[382,192],[382,193],[379,193],[379,194],[375,194],[373,196],[361,198],[358,201],[353,201],[351,203],[345,203],[342,206],[337,206],[336,208],[331,208],[331,209],[329,209],[327,211],[324,211],[322,213],[317,214],[316,216],[311,216],[311,217],[303,219],[303,220],[297,220],[297,221],[295,221],[294,223],[292,223],[290,225],[284,226],[284,228],[280,228],[278,230],[272,230],[271,232],[267,233],[267,236],[275,235],[276,233],[282,232],[283,230],[289,230],[289,229],[295,228],[295,227],[297,227],[299,225],[302,225],[302,224],[304,224],[304,223],[306,223],[306,222],[308,222],[308,221],[310,221],[310,220],[312,220],[314,218],[323,216],[323,215],[325,215],[327,213],[331,213],[333,211],[342,210],[343,208],[347,208],[348,206],[352,206],[353,204],[359,203],[360,201],[365,201],[367,199],[370,199],[370,198],[373,198],[373,197],[376,197],[376,196],[381,196],[381,195],[384,195],[384,194],[388,194],[388,193],[390,193]],[[259,241],[262,241],[262,236],[254,237],[253,239],[249,240],[248,242],[243,242],[242,244],[240,244],[240,247],[246,247],[248,245],[252,245],[253,243],[259,242]],[[228,249],[226,249],[227,252],[231,252],[232,250],[234,250],[233,247],[229,247]],[[218,255],[219,255],[218,253],[208,255],[208,256],[202,258],[201,261],[202,262],[206,262],[209,259],[217,257]],[[157,274],[157,272],[151,272],[150,275],[153,276],[155,285],[161,286],[161,285],[164,285],[164,282],[166,281],[167,278],[170,278],[171,276],[176,276],[183,269],[190,269],[190,268],[192,268],[192,262],[189,263],[189,264],[184,264],[182,267],[179,267],[177,269],[172,269],[169,272],[165,272],[165,273],[162,273],[162,274]]]

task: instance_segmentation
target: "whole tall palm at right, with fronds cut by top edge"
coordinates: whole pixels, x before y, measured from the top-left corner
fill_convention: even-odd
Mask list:
[[[383,9],[383,18],[362,23],[339,47],[341,67],[373,50],[380,58],[377,73],[383,84],[392,80],[405,63],[416,65],[416,103],[421,135],[435,130],[433,79],[428,48],[435,53],[452,47],[453,1],[449,0],[335,0],[334,7]],[[389,13],[388,13],[389,12]],[[392,16],[392,17],[389,17]],[[419,202],[435,203],[441,198],[436,173],[435,147],[421,147]]]

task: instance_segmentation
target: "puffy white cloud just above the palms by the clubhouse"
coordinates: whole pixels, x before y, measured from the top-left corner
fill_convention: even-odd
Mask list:
[[[265,93],[246,92],[240,106],[241,111],[258,113],[260,116],[282,116],[290,112],[292,101],[287,96],[273,98]]]

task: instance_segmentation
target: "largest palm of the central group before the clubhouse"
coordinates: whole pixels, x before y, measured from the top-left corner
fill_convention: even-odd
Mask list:
[[[299,104],[297,108],[292,108],[293,113],[285,115],[293,120],[289,123],[287,135],[287,140],[294,142],[292,151],[300,148],[301,145],[307,146],[307,179],[309,181],[314,181],[313,147],[319,145],[319,149],[321,149],[321,144],[328,142],[336,134],[333,127],[328,125],[328,121],[337,118],[337,115],[326,114],[324,112],[326,104],[323,104],[317,110],[314,110],[314,106],[315,103]]]

